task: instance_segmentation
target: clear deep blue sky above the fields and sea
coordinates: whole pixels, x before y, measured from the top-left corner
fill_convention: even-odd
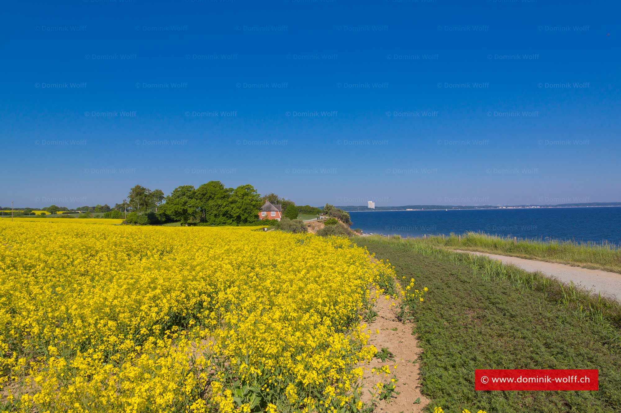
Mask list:
[[[614,1],[3,6],[3,207],[621,201]]]

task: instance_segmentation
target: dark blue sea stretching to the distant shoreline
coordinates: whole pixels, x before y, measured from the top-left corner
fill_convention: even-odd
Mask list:
[[[620,207],[358,211],[350,215],[351,228],[373,234],[422,237],[474,231],[517,238],[608,241],[621,245]]]

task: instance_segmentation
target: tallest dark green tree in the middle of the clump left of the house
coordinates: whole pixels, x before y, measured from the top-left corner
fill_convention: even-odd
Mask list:
[[[221,225],[232,222],[230,198],[232,188],[225,188],[219,180],[210,180],[196,189],[196,207],[206,223]]]

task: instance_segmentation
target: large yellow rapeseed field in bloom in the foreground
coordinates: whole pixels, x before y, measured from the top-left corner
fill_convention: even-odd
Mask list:
[[[361,365],[377,350],[363,318],[394,283],[365,249],[252,228],[58,221],[71,224],[0,221],[9,409],[364,409]]]

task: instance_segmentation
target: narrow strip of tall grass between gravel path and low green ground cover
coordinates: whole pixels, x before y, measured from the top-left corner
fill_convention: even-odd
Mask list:
[[[481,236],[481,234],[473,235]],[[455,236],[454,238],[457,239],[458,237]],[[396,248],[407,249],[425,257],[446,260],[453,264],[466,264],[473,270],[475,275],[481,276],[485,281],[508,280],[512,285],[524,292],[528,290],[542,291],[549,300],[556,301],[561,306],[571,309],[576,318],[590,319],[591,321],[601,323],[602,326],[607,325],[621,328],[621,303],[618,301],[576,288],[573,283],[566,285],[558,280],[546,277],[542,273],[527,272],[515,267],[515,265],[505,265],[499,260],[492,260],[486,256],[460,254],[450,251],[450,249],[442,247],[446,245],[448,239],[444,239],[443,241],[445,242],[440,242],[442,237],[425,239],[374,235],[369,237],[369,240],[384,242]]]

